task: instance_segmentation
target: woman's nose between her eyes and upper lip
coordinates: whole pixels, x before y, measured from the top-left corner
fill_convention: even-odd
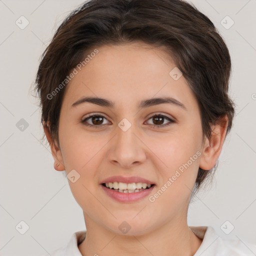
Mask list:
[[[141,142],[135,125],[132,124],[126,131],[117,126],[116,132],[111,139],[108,160],[123,168],[130,168],[145,161],[145,145]]]

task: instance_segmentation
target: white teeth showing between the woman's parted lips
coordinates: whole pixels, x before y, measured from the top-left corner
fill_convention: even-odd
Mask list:
[[[140,191],[141,189],[145,189],[146,187],[150,187],[151,184],[141,183],[141,182],[133,182],[133,183],[123,183],[123,182],[107,182],[105,183],[106,187],[113,188],[115,191],[122,192],[122,190],[127,191],[129,193],[133,193]],[[126,192],[124,192],[126,193]]]

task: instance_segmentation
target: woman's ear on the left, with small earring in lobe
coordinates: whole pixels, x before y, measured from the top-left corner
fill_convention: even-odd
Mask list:
[[[64,166],[64,163],[63,163],[63,158],[62,158],[61,151],[60,151],[57,143],[55,141],[53,141],[52,138],[51,138],[51,135],[50,135],[50,132],[49,132],[48,121],[47,121],[47,124],[43,125],[43,130],[44,130],[46,138],[49,142],[50,149],[51,149],[51,154],[52,154],[53,159],[54,159],[54,169],[55,170],[65,170],[65,166]]]

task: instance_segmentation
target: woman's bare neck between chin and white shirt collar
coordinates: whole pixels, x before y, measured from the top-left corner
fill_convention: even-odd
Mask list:
[[[171,221],[142,235],[117,234],[86,219],[86,237],[78,248],[83,256],[100,255],[182,255],[192,256],[202,240],[187,226],[186,221]]]

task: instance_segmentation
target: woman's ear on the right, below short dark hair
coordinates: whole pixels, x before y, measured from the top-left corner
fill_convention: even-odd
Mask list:
[[[222,117],[218,124],[211,126],[211,137],[206,138],[199,161],[199,167],[210,170],[214,167],[222,149],[228,124],[227,116]]]

